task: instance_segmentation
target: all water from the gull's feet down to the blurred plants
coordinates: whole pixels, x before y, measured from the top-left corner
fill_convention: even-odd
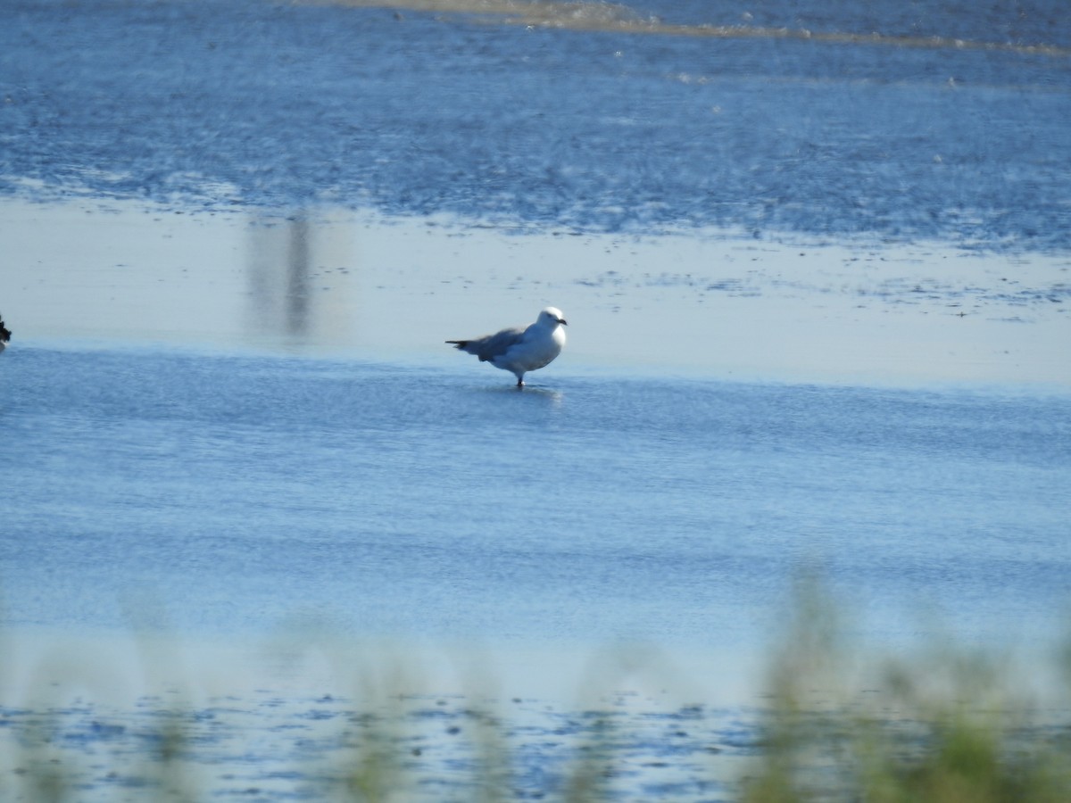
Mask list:
[[[3,359],[0,752],[47,739],[82,799],[315,800],[381,727],[413,800],[474,793],[485,738],[516,799],[609,739],[615,799],[729,800],[801,570],[856,641],[1021,683],[1062,630],[1067,394]]]

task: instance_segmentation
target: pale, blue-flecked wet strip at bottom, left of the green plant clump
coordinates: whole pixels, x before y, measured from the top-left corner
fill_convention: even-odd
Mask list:
[[[87,801],[345,798],[369,767],[392,800],[473,799],[483,784],[555,797],[592,768],[622,800],[727,800],[758,739],[728,675],[715,691],[639,647],[297,631],[229,643],[21,631],[3,646],[0,777],[31,788],[58,773]]]

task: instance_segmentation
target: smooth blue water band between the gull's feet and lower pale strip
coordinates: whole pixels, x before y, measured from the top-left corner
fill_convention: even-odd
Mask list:
[[[1071,399],[169,351],[3,357],[17,625],[754,646],[818,566],[871,635],[1067,603]]]

